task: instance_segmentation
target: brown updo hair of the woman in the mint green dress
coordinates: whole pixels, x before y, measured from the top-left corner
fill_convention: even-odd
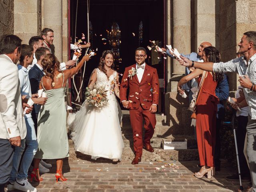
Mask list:
[[[52,82],[54,82],[53,78],[55,75],[55,69],[58,71],[60,70],[60,62],[58,59],[53,54],[46,54],[46,56],[44,56],[42,59],[41,64],[43,66],[45,75],[50,77]]]

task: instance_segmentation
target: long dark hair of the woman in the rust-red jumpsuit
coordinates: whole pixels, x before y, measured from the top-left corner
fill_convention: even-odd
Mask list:
[[[208,46],[204,48],[204,54],[208,58],[208,62],[220,62],[220,52],[216,47]],[[216,82],[220,82],[223,79],[223,73],[212,73],[212,76]]]

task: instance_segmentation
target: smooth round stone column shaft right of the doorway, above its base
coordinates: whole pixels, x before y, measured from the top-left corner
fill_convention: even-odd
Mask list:
[[[173,47],[180,53],[190,53],[190,0],[173,0]],[[174,75],[184,74],[184,67],[174,60]]]

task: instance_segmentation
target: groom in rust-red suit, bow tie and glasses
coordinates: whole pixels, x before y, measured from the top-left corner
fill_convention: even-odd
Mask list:
[[[155,68],[145,63],[146,49],[139,47],[135,51],[136,64],[126,67],[120,84],[120,100],[124,108],[130,110],[135,157],[132,164],[141,161],[142,148],[154,152],[150,139],[156,126],[156,110],[159,100],[159,81]],[[129,88],[128,99],[126,92]],[[144,118],[145,135],[142,139],[142,121]]]

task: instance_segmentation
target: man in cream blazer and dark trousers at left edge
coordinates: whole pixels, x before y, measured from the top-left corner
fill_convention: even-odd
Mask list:
[[[26,136],[18,68],[22,40],[15,35],[0,38],[0,192],[10,178],[14,147]],[[23,104],[28,106],[28,104]],[[26,111],[29,113],[32,108]]]

